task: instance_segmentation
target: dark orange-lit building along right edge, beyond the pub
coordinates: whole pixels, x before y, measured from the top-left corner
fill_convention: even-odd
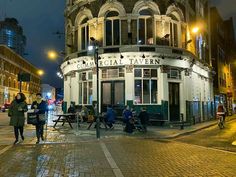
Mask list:
[[[211,54],[214,76],[215,108],[219,102],[224,103],[228,115],[232,114],[234,94],[233,77],[235,63],[235,37],[232,17],[223,20],[216,7],[211,8]],[[234,74],[234,75],[233,75]]]

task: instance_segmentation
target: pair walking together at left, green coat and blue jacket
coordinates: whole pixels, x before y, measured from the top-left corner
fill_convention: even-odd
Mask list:
[[[14,144],[19,142],[19,134],[22,141],[24,141],[24,125],[25,125],[25,112],[28,111],[26,97],[23,93],[17,93],[15,99],[12,101],[8,111],[10,117],[10,125],[14,127],[15,141]],[[41,93],[36,94],[36,100],[32,103],[31,109],[34,110],[36,115],[36,137],[37,144],[40,139],[44,141],[44,124],[46,122],[45,113],[47,112],[47,102],[42,99]]]

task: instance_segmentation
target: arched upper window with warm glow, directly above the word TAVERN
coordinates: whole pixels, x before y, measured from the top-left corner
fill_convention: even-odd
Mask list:
[[[153,14],[150,9],[139,12],[138,44],[153,44]]]

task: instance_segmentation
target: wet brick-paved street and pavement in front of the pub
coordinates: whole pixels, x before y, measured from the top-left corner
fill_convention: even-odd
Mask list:
[[[39,145],[35,144],[34,126],[25,127],[24,142],[12,145],[12,127],[0,123],[0,177],[236,176],[236,153],[173,139],[204,127],[214,128],[215,121],[184,130],[149,127],[146,134],[137,131],[132,135],[117,124],[114,130],[101,129],[97,140],[95,129],[87,130],[86,123],[78,129],[76,124],[71,129],[59,123],[54,129],[53,119],[51,116],[48,122],[46,141]]]

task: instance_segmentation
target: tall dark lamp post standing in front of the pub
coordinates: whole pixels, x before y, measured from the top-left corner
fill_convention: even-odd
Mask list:
[[[96,136],[97,139],[100,138],[100,119],[99,119],[99,67],[98,67],[98,44],[97,41],[91,37],[90,40],[93,42],[94,48],[94,62],[96,64],[96,74],[97,74],[97,111],[96,111]]]

